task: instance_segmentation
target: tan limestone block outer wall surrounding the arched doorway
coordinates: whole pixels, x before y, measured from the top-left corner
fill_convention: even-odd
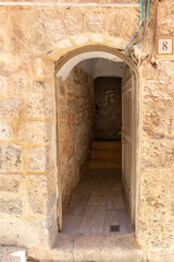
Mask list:
[[[158,36],[173,35],[173,0],[159,2]],[[40,249],[58,231],[54,62],[90,46],[124,56],[139,17],[135,5],[1,7],[0,243]],[[167,261],[162,254],[174,252],[174,56],[157,56],[151,64],[153,22],[152,4],[141,66],[124,60],[139,73],[135,236],[149,261]],[[138,59],[139,47],[134,50]]]

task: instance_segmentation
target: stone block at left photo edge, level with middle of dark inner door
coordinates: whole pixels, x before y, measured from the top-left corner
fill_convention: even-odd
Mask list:
[[[21,97],[0,99],[0,117],[18,118],[22,105],[23,99]]]

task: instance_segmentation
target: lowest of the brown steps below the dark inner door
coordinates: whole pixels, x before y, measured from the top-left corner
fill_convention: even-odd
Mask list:
[[[115,162],[105,162],[105,160],[89,160],[88,162],[89,169],[122,169],[122,163]]]

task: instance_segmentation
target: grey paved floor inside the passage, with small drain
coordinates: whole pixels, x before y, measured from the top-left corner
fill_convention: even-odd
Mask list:
[[[119,170],[89,170],[63,216],[63,234],[129,234]]]

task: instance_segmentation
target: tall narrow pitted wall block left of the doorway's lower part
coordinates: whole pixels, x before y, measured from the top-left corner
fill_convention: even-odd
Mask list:
[[[36,215],[46,214],[47,212],[47,176],[29,175],[27,176],[27,192],[29,205],[33,213]]]

